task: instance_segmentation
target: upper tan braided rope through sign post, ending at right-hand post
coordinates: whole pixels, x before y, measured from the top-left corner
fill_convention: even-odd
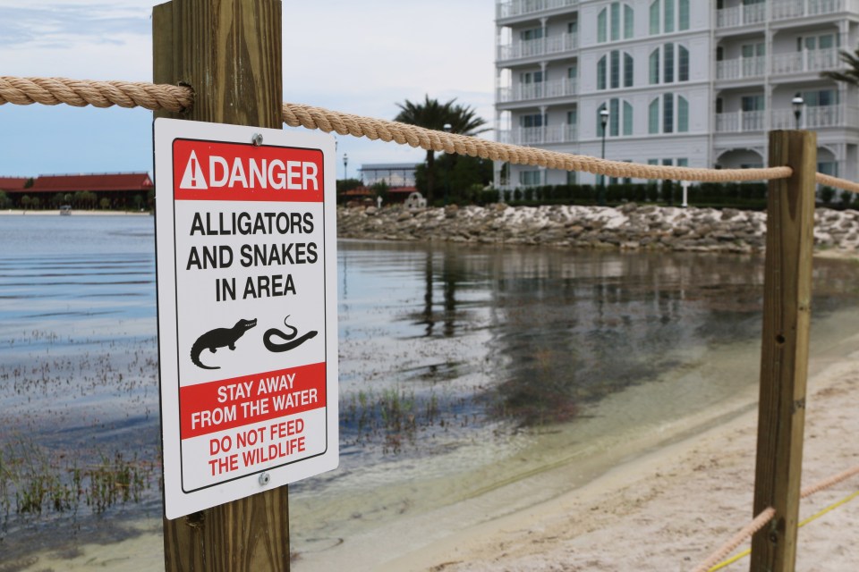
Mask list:
[[[193,92],[191,88],[182,86],[154,85],[142,82],[0,77],[0,105],[4,103],[17,105],[33,103],[57,105],[64,103],[79,107],[84,105],[95,105],[96,107],[141,106],[152,111],[164,109],[182,112],[193,103]],[[506,145],[466,135],[424,129],[405,123],[342,114],[310,105],[285,103],[283,115],[284,122],[291,127],[301,125],[307,129],[319,129],[326,132],[336,131],[341,135],[349,134],[354,137],[395,141],[401,145],[421,147],[432,151],[480,156],[485,159],[513,164],[539,165],[549,169],[592,172],[611,177],[726,182],[786,179],[792,173],[789,167],[715,170],[607,161],[591,156],[570,155],[534,147]]]

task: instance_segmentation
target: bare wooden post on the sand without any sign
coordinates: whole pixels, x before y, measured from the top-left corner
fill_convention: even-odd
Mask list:
[[[754,514],[773,507],[776,516],[753,536],[753,572],[792,572],[795,566],[812,300],[816,134],[771,132],[770,166],[779,165],[794,173],[789,179],[770,181],[769,188],[754,484]]]

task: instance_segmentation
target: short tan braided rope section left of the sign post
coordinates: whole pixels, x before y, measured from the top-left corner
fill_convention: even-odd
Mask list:
[[[91,81],[66,78],[0,77],[0,105],[145,107],[181,112],[191,106],[191,89],[141,81]]]

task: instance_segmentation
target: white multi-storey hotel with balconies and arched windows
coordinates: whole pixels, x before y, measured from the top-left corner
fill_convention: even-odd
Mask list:
[[[857,180],[859,89],[821,78],[859,45],[859,0],[498,0],[498,140],[644,164],[767,164],[767,132],[818,134],[818,170]],[[510,165],[496,185],[592,183]]]

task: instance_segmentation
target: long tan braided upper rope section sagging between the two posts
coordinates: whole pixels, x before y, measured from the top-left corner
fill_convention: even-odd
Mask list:
[[[284,104],[284,122],[291,127],[302,126],[340,135],[395,141],[401,145],[421,147],[432,151],[445,151],[459,155],[479,156],[494,161],[514,164],[540,165],[549,169],[586,171],[611,177],[637,179],[670,179],[674,181],[762,181],[786,179],[793,172],[790,167],[766,169],[693,169],[607,161],[591,156],[571,155],[535,147],[519,147],[429,130],[415,125],[388,122],[361,115],[342,114],[311,105]]]

